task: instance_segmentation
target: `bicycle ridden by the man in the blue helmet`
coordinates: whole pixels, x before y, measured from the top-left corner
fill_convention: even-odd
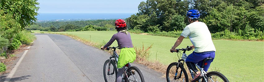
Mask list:
[[[182,49],[176,49],[176,51],[171,51],[171,52],[177,52],[177,56],[179,58],[178,62],[171,63],[166,71],[166,79],[167,82],[189,82],[189,77],[188,74],[184,68],[184,62],[187,58],[187,55],[185,54],[186,51],[190,51],[192,48],[190,46],[187,46],[187,48],[182,48]],[[180,53],[183,51],[183,53]],[[179,53],[182,54],[182,57],[179,56]],[[203,71],[204,65],[207,60],[211,60],[212,58],[205,58],[203,60],[203,65],[202,67],[198,66],[197,64],[196,67],[200,69],[202,76],[198,77],[198,80],[194,80],[192,82],[229,82],[227,78],[221,74],[220,72],[217,71],[211,71],[211,72],[206,72]],[[189,69],[189,68],[188,68]],[[194,71],[189,69],[191,78],[193,79],[194,77]]]

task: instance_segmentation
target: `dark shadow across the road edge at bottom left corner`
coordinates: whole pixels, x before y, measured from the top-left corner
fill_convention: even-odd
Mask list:
[[[21,77],[15,77],[15,78],[6,78],[6,77],[7,76],[1,76],[0,77],[1,78],[0,82],[8,81],[8,79],[9,79],[9,82],[25,80],[25,79],[29,79],[28,77],[30,77],[30,75],[21,76]]]

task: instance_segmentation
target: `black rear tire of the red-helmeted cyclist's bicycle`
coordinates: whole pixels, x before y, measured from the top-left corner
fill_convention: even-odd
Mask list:
[[[138,74],[139,74],[139,77],[140,77],[140,80],[139,82],[145,82],[144,80],[144,77],[143,77],[143,74],[141,73],[141,71],[139,70],[138,67],[135,67],[135,66],[131,66],[127,69],[127,71],[131,71],[131,70],[135,70]],[[128,74],[128,78],[130,77],[130,74]],[[129,79],[127,77],[124,77],[125,79],[125,82],[130,82]]]

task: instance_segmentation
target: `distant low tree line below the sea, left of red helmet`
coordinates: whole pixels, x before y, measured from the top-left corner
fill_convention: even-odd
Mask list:
[[[66,21],[66,22],[37,22],[29,27],[27,30],[40,30],[40,31],[82,31],[88,30],[85,26],[93,25],[91,31],[108,31],[115,30],[115,20],[88,20],[88,21]]]

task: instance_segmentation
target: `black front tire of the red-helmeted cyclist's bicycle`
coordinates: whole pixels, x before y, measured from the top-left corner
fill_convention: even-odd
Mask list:
[[[105,82],[108,82],[108,80],[107,80],[107,73],[106,73],[106,71],[108,70],[108,68],[107,68],[107,70],[106,70],[106,67],[108,67],[109,60],[110,60],[110,59],[107,59],[107,60],[105,61],[105,63],[104,63],[104,67],[103,67],[103,75],[104,75],[104,80],[105,80]],[[113,73],[115,73],[115,75],[117,75],[116,63],[114,63],[112,60],[110,61],[110,63],[111,63],[112,66],[113,66]],[[110,66],[111,66],[111,65],[110,65]],[[110,67],[110,69],[111,69],[111,67]],[[116,81],[116,76],[114,76],[114,80],[113,80],[113,82],[115,82],[115,81]],[[112,82],[112,81],[109,81],[109,82]]]

